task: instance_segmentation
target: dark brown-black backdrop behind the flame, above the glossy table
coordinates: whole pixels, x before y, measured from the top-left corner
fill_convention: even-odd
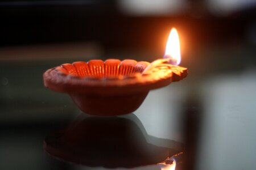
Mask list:
[[[121,2],[2,1],[1,46],[98,41],[105,50],[159,50],[171,27],[185,37],[189,49],[227,43],[255,44],[253,1],[241,2],[240,6],[238,3],[238,7],[227,11],[225,7],[210,11],[210,1],[185,1],[186,7],[174,14],[170,9],[171,14],[154,14],[152,10],[152,14],[144,15],[123,10]],[[218,2],[213,5],[217,8]],[[143,6],[146,8],[147,3]]]

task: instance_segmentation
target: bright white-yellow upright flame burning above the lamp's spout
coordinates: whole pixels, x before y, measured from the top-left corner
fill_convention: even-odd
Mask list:
[[[168,37],[168,41],[166,44],[166,53],[164,54],[164,58],[170,58],[171,62],[174,65],[179,65],[181,61],[180,40],[177,30],[175,28],[172,28],[170,35]]]

